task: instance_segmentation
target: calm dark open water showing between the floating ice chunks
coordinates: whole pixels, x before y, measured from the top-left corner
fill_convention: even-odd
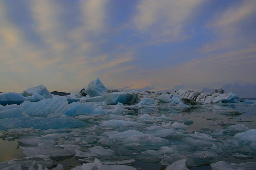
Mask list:
[[[167,117],[171,118],[180,118],[180,119],[191,119],[193,120],[192,124],[188,124],[187,126],[187,134],[192,134],[194,131],[202,132],[202,133],[210,133],[216,129],[222,129],[224,124],[245,124],[246,127],[250,129],[256,129],[256,104],[252,103],[231,103],[231,104],[213,104],[213,105],[204,105],[204,106],[198,106],[198,107],[192,107],[192,108],[181,108],[181,107],[144,107],[144,108],[129,108],[130,111],[128,111],[124,115],[131,115],[130,117],[127,117],[125,120],[131,120],[138,122],[137,119],[139,116],[143,114],[149,114],[150,116],[160,117],[161,115],[165,115]],[[227,110],[236,110],[238,112],[241,112],[243,114],[241,115],[226,115]],[[121,118],[124,119],[124,118]],[[134,119],[134,120],[133,120]],[[109,120],[109,116],[99,116],[95,117],[95,119],[91,119],[86,121],[90,124],[89,127],[86,128],[79,128],[82,129],[78,134],[79,136],[72,136],[72,137],[63,137],[59,138],[59,143],[70,143],[70,144],[78,144],[75,142],[76,137],[86,138],[88,135],[97,135],[99,136],[103,132],[107,131],[126,131],[126,130],[138,130],[138,131],[144,131],[142,128],[144,127],[138,127],[138,126],[117,126],[117,127],[111,127],[111,128],[103,128],[98,130],[90,130],[90,128],[94,127],[95,125],[99,125],[103,121]],[[170,121],[168,120],[152,120],[152,121],[144,121],[143,123],[146,123],[149,127],[152,125],[161,125],[162,122],[168,123]],[[56,132],[53,132],[56,133]],[[171,141],[174,145],[177,144],[186,144],[182,139],[184,137],[162,137],[164,139],[167,139]],[[226,134],[224,136],[217,137],[218,141],[220,142],[222,139],[233,139],[233,135]],[[129,149],[131,153],[137,153],[137,152],[143,152],[145,150],[157,150],[161,146],[128,146],[123,145],[118,142],[112,142],[107,144],[99,144],[97,143],[98,140],[90,141],[89,139],[87,142],[89,144],[87,145],[80,145],[82,146],[83,151],[86,151],[88,148],[92,148],[94,146],[102,146],[110,148],[114,151],[116,146],[122,146],[125,149]],[[217,144],[217,143],[216,143]],[[79,145],[79,144],[78,144]],[[8,161],[12,158],[22,158],[25,155],[22,153],[22,149],[19,148],[19,146],[22,146],[20,143],[17,142],[17,140],[4,140],[0,139],[0,162]],[[164,146],[171,146],[170,144],[164,145]],[[173,146],[173,145],[172,145]],[[219,146],[218,146],[219,147]],[[240,146],[238,146],[240,148]],[[196,151],[201,151],[202,148],[195,147]],[[117,151],[116,151],[117,152]],[[229,152],[229,151],[228,151]],[[193,152],[189,153],[192,154]],[[124,154],[125,155],[125,154]],[[220,154],[221,155],[221,154]],[[256,156],[256,153],[254,152],[252,154],[253,156]],[[130,158],[134,158],[133,154],[126,155]],[[71,157],[60,157],[57,159],[54,159],[55,162],[61,163],[64,165],[64,169],[72,169],[78,165],[82,165],[83,162],[78,160],[79,157],[71,156]],[[106,161],[106,158],[99,157],[101,161]],[[232,153],[228,157],[222,157],[223,160],[227,162],[232,163],[241,163],[241,162],[248,162],[253,161],[256,162],[256,159],[236,159],[232,156]],[[140,168],[141,170],[150,170],[150,169],[164,169],[166,166],[162,166],[160,163],[160,160],[155,159],[155,161],[150,162],[149,160],[136,160],[135,163],[132,164],[135,168]],[[209,166],[209,162],[216,162],[217,160],[204,160],[204,159],[198,159],[199,161],[195,163],[195,167],[192,167],[193,170],[210,170],[211,167]],[[89,160],[90,161],[90,160]]]

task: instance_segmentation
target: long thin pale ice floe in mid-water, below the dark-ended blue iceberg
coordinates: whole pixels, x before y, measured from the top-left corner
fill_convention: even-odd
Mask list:
[[[133,121],[125,121],[125,120],[109,120],[102,122],[100,126],[108,126],[108,127],[120,127],[120,126],[145,126],[147,124],[138,123]]]

